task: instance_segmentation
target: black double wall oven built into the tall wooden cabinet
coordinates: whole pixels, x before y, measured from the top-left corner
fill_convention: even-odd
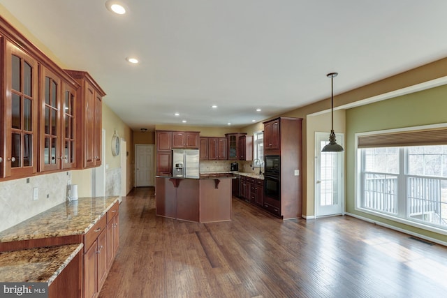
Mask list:
[[[264,196],[281,200],[281,157],[264,156]]]

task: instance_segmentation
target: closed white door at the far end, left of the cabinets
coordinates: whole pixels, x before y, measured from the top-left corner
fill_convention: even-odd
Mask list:
[[[135,145],[135,186],[154,186],[154,145]]]

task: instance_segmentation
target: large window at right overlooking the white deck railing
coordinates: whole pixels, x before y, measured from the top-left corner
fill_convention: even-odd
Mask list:
[[[397,138],[394,135],[389,140],[395,142]],[[447,142],[395,147],[388,141],[379,144],[376,136],[365,137],[367,142],[361,139],[357,208],[447,231]]]

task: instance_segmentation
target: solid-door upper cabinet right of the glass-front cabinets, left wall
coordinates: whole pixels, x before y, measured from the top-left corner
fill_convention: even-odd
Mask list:
[[[101,165],[102,98],[105,92],[89,73],[79,70],[66,72],[80,84],[76,100],[76,112],[81,124],[76,131],[80,140],[77,142],[77,151],[80,152],[79,167],[98,167]]]

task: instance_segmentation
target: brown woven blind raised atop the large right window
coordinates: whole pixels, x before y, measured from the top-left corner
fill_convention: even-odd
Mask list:
[[[405,147],[447,144],[447,128],[360,135],[358,148]]]

